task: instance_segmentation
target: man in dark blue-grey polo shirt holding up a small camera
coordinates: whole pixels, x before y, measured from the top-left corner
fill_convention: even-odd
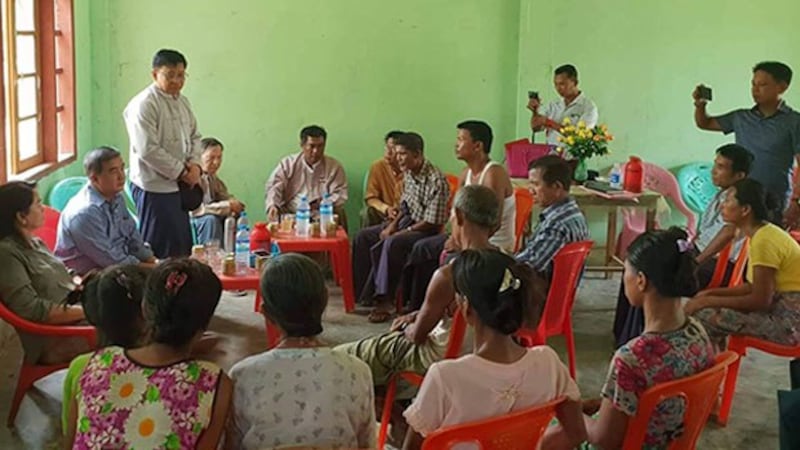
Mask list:
[[[692,98],[697,127],[736,134],[736,143],[755,157],[750,177],[779,200],[776,217],[782,214],[784,225],[795,227],[800,218],[800,188],[793,185],[791,177],[795,160],[800,162],[800,113],[781,98],[791,81],[792,69],[786,64],[761,62],[753,67],[750,88],[755,106],[712,117],[706,113],[711,89],[697,86]]]

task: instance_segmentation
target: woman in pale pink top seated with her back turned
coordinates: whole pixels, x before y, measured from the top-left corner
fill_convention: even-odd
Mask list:
[[[425,436],[446,426],[561,396],[567,400],[557,416],[566,433],[546,435],[545,441],[550,440],[548,448],[574,448],[586,438],[578,386],[551,348],[526,349],[512,338],[523,318],[542,311],[545,299],[534,288],[531,269],[496,250],[465,250],[453,262],[453,275],[456,298],[474,328],[473,354],[435,363],[428,370],[404,413],[409,431],[403,448],[420,448]]]

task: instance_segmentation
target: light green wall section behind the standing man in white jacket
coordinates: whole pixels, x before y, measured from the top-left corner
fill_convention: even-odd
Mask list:
[[[152,54],[177,48],[200,131],[225,143],[221,175],[257,217],[272,168],[318,123],[357,223],[386,131],[420,132],[448,171],[461,167],[458,121],[514,137],[518,23],[518,0],[92,0],[93,138],[127,147],[123,108],[149,83]]]

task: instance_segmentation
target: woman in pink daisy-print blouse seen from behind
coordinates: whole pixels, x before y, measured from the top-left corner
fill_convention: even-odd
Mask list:
[[[69,411],[72,448],[217,448],[232,383],[190,353],[221,292],[219,279],[198,261],[177,259],[153,270],[143,307],[150,344],[90,357]]]

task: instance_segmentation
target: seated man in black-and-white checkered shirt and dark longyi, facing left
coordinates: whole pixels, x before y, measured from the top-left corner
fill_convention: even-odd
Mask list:
[[[370,321],[385,322],[411,247],[439,233],[447,222],[450,189],[444,174],[425,159],[424,142],[417,133],[395,139],[397,161],[403,172],[400,206],[389,211],[390,221],[358,232],[353,241],[353,283],[363,305],[377,304]]]

